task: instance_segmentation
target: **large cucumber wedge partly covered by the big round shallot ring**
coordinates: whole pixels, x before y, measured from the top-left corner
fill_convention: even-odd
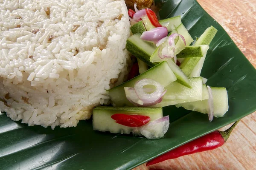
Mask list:
[[[141,79],[153,79],[159,82],[163,87],[166,87],[171,82],[176,81],[177,77],[169,67],[168,63],[163,61],[160,64],[150,68],[148,71],[145,71],[143,74],[140,74],[139,76],[108,90],[107,93],[109,94],[113,105],[120,107],[134,106],[126,99],[124,88],[134,87],[134,84]]]

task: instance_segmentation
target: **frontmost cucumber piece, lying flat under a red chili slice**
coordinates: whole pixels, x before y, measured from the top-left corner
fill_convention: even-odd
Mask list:
[[[111,133],[125,133],[129,134],[134,129],[133,127],[127,127],[120,125],[111,118],[113,114],[137,114],[149,116],[150,121],[163,117],[162,108],[129,108],[129,107],[98,107],[93,109],[93,130],[99,130],[102,132],[109,131]]]

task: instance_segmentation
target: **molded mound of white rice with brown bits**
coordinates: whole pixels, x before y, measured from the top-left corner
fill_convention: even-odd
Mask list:
[[[0,0],[0,109],[29,125],[76,126],[127,74],[124,0]]]

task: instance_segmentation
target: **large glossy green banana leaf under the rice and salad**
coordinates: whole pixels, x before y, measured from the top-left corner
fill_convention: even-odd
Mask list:
[[[166,136],[147,140],[93,131],[91,120],[51,130],[28,127],[0,113],[1,170],[128,170],[256,111],[256,70],[226,31],[195,0],[156,3],[162,5],[161,19],[181,15],[192,37],[209,26],[218,29],[201,76],[208,79],[207,85],[227,88],[226,115],[209,123],[207,114],[166,107],[163,112],[171,122]]]

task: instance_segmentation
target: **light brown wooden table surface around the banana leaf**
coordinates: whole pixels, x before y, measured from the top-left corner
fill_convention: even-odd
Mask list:
[[[198,0],[198,2],[221,24],[247,59],[256,67],[256,0]],[[164,161],[151,168],[256,170],[256,112],[239,122],[224,146]],[[148,170],[148,167],[143,164],[134,170]]]

